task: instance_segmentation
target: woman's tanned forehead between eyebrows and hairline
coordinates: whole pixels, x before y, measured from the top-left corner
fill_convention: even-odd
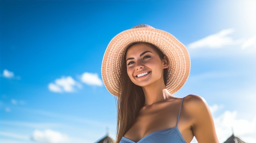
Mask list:
[[[152,53],[156,53],[156,51],[152,47],[152,45],[147,44],[147,43],[137,43],[137,44],[130,46],[130,48],[128,48],[128,50],[126,52],[126,57],[128,57],[129,55],[141,54],[144,51],[150,51]]]

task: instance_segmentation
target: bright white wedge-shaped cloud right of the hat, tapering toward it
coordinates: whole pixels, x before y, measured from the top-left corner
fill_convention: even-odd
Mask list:
[[[232,37],[228,36],[233,32],[234,29],[224,29],[219,33],[209,35],[189,44],[188,48],[221,48],[222,46],[241,43],[241,40],[233,40]]]

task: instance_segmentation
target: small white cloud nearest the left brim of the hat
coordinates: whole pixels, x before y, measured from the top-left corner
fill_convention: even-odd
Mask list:
[[[88,85],[102,86],[102,81],[97,73],[83,73],[81,81]]]

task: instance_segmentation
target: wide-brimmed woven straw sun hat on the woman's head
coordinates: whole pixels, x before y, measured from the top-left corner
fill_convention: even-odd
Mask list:
[[[108,44],[101,65],[101,76],[108,91],[119,96],[119,76],[126,48],[135,42],[155,45],[168,58],[166,88],[174,94],[185,84],[190,72],[190,57],[186,47],[173,35],[141,24],[117,34]]]

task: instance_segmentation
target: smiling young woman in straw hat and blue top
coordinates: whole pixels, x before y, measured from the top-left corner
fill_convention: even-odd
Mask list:
[[[141,24],[116,35],[101,73],[118,97],[117,143],[218,143],[206,101],[173,94],[190,72],[186,47],[173,35]]]

